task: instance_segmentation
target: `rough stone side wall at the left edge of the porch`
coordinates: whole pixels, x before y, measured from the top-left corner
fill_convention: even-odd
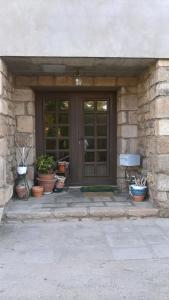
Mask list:
[[[0,60],[0,184],[13,183],[15,166],[15,115],[12,99],[13,80]]]

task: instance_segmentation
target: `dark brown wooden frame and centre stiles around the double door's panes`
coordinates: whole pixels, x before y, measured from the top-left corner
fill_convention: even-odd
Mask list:
[[[35,101],[35,137],[36,137],[36,155],[42,155],[45,153],[44,150],[44,134],[43,134],[43,115],[44,115],[44,100],[47,97],[55,96],[56,98],[69,98],[70,100],[70,120],[74,117],[77,118],[77,122],[80,122],[80,120],[83,119],[83,111],[81,108],[81,113],[78,111],[78,105],[77,101],[78,99],[83,99],[86,95],[87,97],[93,97],[93,99],[101,99],[102,97],[107,97],[110,99],[110,112],[109,112],[109,143],[110,143],[110,149],[109,149],[109,166],[110,166],[110,180],[105,177],[100,177],[97,181],[98,184],[116,184],[117,180],[117,109],[116,109],[116,93],[110,92],[110,91],[37,91],[35,92],[36,95],[36,101]],[[73,100],[73,101],[71,101]],[[81,105],[83,101],[80,101]],[[71,122],[71,121],[70,121]],[[73,122],[75,124],[75,122]],[[72,141],[72,150],[70,150],[70,161],[74,161],[75,158],[78,158],[78,161],[80,161],[80,158],[78,155],[82,151],[79,151],[79,145],[77,145],[77,137],[80,137],[79,128],[78,126],[73,126],[71,124],[70,126],[70,136]],[[110,138],[112,136],[112,138]],[[81,146],[82,147],[82,146]],[[75,166],[74,166],[75,165]],[[70,181],[71,185],[81,185],[80,180],[82,180],[82,170],[78,168],[78,164],[72,164],[72,178]],[[82,169],[82,168],[81,168]],[[71,171],[70,171],[71,172]],[[75,180],[75,178],[77,180]],[[84,180],[83,184],[85,185],[92,185],[92,179],[91,177],[87,180]]]

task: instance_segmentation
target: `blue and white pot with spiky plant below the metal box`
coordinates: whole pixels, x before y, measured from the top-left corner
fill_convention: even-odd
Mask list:
[[[147,193],[147,178],[143,176],[135,178],[132,184],[129,186],[129,190],[133,201],[143,201]]]

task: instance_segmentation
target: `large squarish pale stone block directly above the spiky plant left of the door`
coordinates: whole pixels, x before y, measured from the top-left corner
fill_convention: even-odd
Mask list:
[[[34,119],[32,116],[17,116],[17,131],[32,133],[34,130]]]

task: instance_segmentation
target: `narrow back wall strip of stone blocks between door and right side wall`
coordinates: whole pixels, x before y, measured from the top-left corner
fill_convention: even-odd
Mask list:
[[[117,93],[117,155],[138,153],[137,139],[137,86],[122,86]],[[137,168],[133,169],[136,171]],[[131,169],[132,171],[132,169]],[[117,183],[121,189],[126,188],[125,167],[117,167]]]

